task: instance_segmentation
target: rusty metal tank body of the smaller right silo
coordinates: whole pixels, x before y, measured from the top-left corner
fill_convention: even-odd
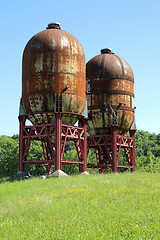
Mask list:
[[[134,121],[134,76],[122,58],[102,51],[86,65],[88,132],[110,133],[113,111],[118,117],[118,133],[125,134]]]

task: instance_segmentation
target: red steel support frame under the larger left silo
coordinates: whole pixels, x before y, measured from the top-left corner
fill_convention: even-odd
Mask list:
[[[50,114],[50,115],[49,115]],[[41,116],[42,119],[55,119],[55,123],[42,123],[26,126],[26,120]],[[52,115],[52,116],[51,116]],[[80,126],[62,123],[64,118],[76,118]],[[24,171],[24,164],[46,165],[47,172],[60,170],[62,164],[79,164],[80,172],[87,171],[87,118],[74,113],[32,113],[19,116],[19,170]],[[55,139],[55,141],[53,140]],[[32,140],[42,142],[44,160],[28,161],[27,156]],[[66,141],[74,141],[79,161],[63,160]]]

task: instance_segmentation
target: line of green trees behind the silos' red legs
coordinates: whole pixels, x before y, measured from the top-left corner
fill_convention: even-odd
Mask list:
[[[18,170],[19,136],[0,136],[0,178],[12,176]],[[160,134],[137,130],[135,135],[136,171],[160,172]],[[39,141],[31,143],[27,160],[43,159],[43,150]],[[67,143],[64,160],[78,160],[74,144]],[[124,152],[120,153],[121,164],[125,164]],[[88,162],[96,162],[94,150],[88,154]],[[68,174],[78,173],[77,165],[63,165],[62,170]],[[90,171],[90,170],[89,170]],[[124,171],[124,169],[122,170]],[[37,164],[25,164],[25,172],[40,175],[46,172],[46,167]]]

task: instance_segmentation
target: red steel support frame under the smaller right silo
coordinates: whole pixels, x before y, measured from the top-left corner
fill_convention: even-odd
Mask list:
[[[130,137],[117,134],[118,126],[111,126],[111,134],[88,136],[88,150],[94,148],[97,152],[97,164],[87,164],[89,168],[97,168],[100,173],[104,169],[112,169],[116,173],[118,168],[129,168],[135,172],[135,132],[136,129],[130,129]],[[124,149],[128,165],[118,165],[120,149]],[[107,156],[108,163],[103,159]]]

